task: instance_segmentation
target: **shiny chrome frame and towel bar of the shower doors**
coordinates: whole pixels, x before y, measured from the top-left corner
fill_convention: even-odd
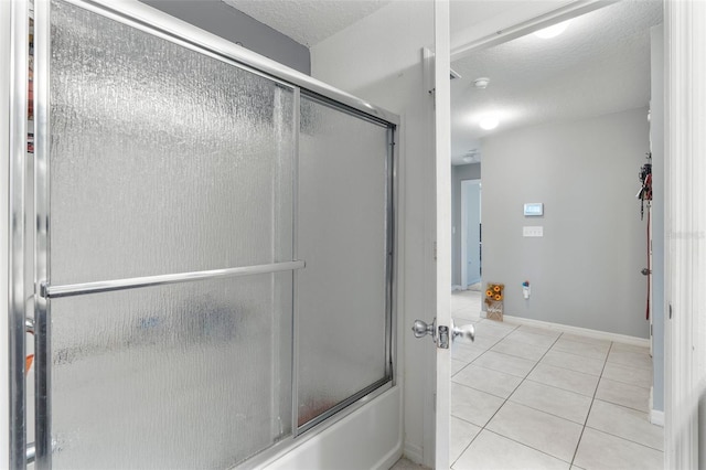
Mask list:
[[[386,386],[376,386],[377,389],[365,391],[362,396],[356,395],[351,403],[345,403],[347,408],[340,412],[338,417],[352,413],[364,403],[395,384],[396,364],[396,312],[395,312],[395,291],[396,291],[396,201],[397,201],[397,174],[396,161],[398,159],[398,150],[395,146],[399,118],[379,107],[356,98],[347,93],[341,92],[330,85],[315,81],[304,74],[290,70],[279,63],[265,58],[256,53],[237,46],[226,40],[217,38],[211,33],[200,30],[181,20],[161,13],[150,7],[147,7],[136,0],[110,2],[109,0],[62,0],[66,3],[75,4],[83,9],[98,13],[103,17],[113,19],[124,24],[128,24],[140,31],[151,35],[175,42],[186,49],[205,54],[257,75],[267,77],[282,85],[290,87],[295,92],[295,170],[293,181],[298,181],[297,160],[299,154],[298,135],[299,135],[299,103],[300,93],[319,97],[323,100],[334,104],[340,110],[350,113],[357,117],[362,117],[388,128],[388,148],[385,168],[386,175]],[[12,38],[15,41],[12,45],[12,65],[13,83],[12,88],[12,117],[11,117],[11,174],[10,179],[14,185],[10,188],[10,244],[9,259],[11,269],[9,312],[10,312],[10,360],[11,360],[11,468],[25,468],[28,457],[30,460],[36,455],[35,464],[38,468],[51,468],[52,438],[51,438],[51,319],[50,319],[50,299],[52,297],[61,297],[83,292],[86,289],[93,291],[118,290],[131,287],[145,287],[157,284],[171,284],[174,281],[186,281],[193,279],[204,279],[207,277],[229,277],[237,275],[247,275],[244,270],[253,270],[257,273],[275,270],[292,270],[293,273],[293,356],[292,356],[292,414],[296,417],[297,409],[297,270],[303,267],[303,263],[297,260],[297,191],[293,194],[293,253],[292,261],[287,266],[264,265],[247,268],[233,268],[232,270],[199,271],[185,274],[181,278],[174,278],[180,275],[164,275],[141,279],[132,279],[129,286],[118,281],[110,282],[88,282],[79,286],[51,286],[45,282],[49,276],[49,257],[51,247],[49,244],[50,231],[50,194],[49,194],[49,132],[50,132],[50,14],[51,0],[34,1],[34,207],[25,205],[25,182],[31,175],[24,172],[25,138],[26,138],[26,70],[28,58],[25,54],[28,38],[28,9],[29,0],[12,0]],[[23,258],[26,249],[26,233],[24,226],[24,217],[34,217],[32,224],[34,226],[34,266],[24,266]],[[284,264],[282,264],[284,265]],[[34,286],[26,286],[25,269],[34,270]],[[218,273],[216,273],[218,271]],[[156,279],[159,278],[159,279]],[[26,391],[24,386],[24,356],[25,356],[25,320],[28,306],[28,296],[33,296],[34,303],[34,331],[35,331],[35,448],[26,444]],[[343,406],[342,406],[343,407]],[[332,413],[333,414],[333,413]],[[336,421],[336,419],[327,419],[329,415],[321,418],[315,424],[317,428],[324,428]],[[272,455],[276,451],[282,451],[291,446],[292,440],[298,434],[307,429],[299,429],[292,421],[292,437],[276,444],[264,455]],[[306,437],[302,436],[303,439]],[[265,456],[266,457],[266,456]],[[256,458],[260,460],[259,458]]]

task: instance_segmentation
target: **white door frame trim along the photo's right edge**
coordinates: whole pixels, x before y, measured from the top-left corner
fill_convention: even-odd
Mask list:
[[[665,1],[665,468],[699,468],[706,434],[704,24],[705,2]]]

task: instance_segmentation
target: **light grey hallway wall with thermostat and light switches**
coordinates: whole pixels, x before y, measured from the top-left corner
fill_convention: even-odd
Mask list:
[[[646,220],[635,197],[648,109],[511,130],[482,146],[483,281],[505,284],[505,314],[648,338]],[[524,216],[527,202],[544,203],[544,215]],[[544,236],[523,237],[523,226]]]

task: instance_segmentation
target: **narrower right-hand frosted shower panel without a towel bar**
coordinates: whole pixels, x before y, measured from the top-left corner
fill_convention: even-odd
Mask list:
[[[387,129],[301,99],[299,425],[385,378]]]

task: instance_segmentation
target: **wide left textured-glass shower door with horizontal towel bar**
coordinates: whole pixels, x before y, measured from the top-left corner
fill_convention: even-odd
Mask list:
[[[50,76],[40,466],[229,468],[291,435],[298,90],[63,1]]]

